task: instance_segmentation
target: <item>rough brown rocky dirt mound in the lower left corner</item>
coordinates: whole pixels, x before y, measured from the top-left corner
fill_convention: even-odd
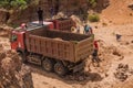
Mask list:
[[[0,45],[0,88],[33,88],[29,67],[22,64],[16,52],[2,48]]]

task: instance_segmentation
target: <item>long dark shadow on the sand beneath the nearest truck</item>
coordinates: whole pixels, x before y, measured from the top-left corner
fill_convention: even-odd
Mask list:
[[[69,74],[66,76],[60,77],[55,73],[49,73],[43,70],[40,66],[34,66],[33,64],[27,64],[30,66],[31,72],[38,75],[42,75],[45,77],[50,77],[52,79],[58,79],[66,84],[80,84],[85,85],[86,82],[91,81],[101,81],[103,78],[98,73],[76,73],[76,74]]]

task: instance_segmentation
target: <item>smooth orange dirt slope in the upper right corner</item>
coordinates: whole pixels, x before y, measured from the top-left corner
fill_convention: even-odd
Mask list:
[[[110,0],[110,6],[101,13],[103,23],[133,23],[133,0]]]

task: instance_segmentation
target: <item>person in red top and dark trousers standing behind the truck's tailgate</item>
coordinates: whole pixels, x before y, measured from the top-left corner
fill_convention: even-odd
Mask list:
[[[92,62],[93,63],[96,63],[98,65],[98,67],[100,66],[100,58],[99,58],[99,56],[98,56],[98,51],[99,51],[99,46],[98,46],[98,41],[94,41],[94,51],[93,51],[93,54],[92,54]]]

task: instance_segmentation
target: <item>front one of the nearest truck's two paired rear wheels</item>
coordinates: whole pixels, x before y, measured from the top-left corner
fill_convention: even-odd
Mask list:
[[[42,62],[42,67],[44,68],[44,70],[47,72],[52,72],[53,70],[53,62],[52,59],[45,58]]]

